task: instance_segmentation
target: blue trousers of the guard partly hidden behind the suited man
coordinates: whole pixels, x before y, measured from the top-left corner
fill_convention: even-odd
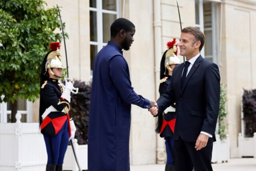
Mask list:
[[[166,149],[166,155],[167,155],[166,164],[167,165],[174,165],[173,147],[174,147],[173,137],[165,137],[165,149]]]

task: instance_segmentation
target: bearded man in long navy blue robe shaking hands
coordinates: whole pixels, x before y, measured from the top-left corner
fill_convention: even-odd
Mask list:
[[[149,109],[155,101],[136,94],[122,49],[133,43],[135,26],[118,18],[111,38],[96,55],[88,126],[88,171],[130,171],[131,104]]]

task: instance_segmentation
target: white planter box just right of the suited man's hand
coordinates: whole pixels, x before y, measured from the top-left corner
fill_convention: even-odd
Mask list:
[[[225,140],[220,140],[216,134],[216,142],[213,142],[212,163],[228,162],[230,159],[229,135]]]

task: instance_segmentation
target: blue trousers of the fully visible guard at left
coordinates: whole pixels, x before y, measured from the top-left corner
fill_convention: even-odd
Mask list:
[[[47,164],[62,165],[69,143],[68,120],[55,136],[43,136],[47,151]]]

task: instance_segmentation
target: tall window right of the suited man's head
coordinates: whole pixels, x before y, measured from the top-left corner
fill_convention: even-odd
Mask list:
[[[204,58],[218,64],[218,37],[216,2],[195,1],[196,27],[204,32],[205,44],[201,51]]]

